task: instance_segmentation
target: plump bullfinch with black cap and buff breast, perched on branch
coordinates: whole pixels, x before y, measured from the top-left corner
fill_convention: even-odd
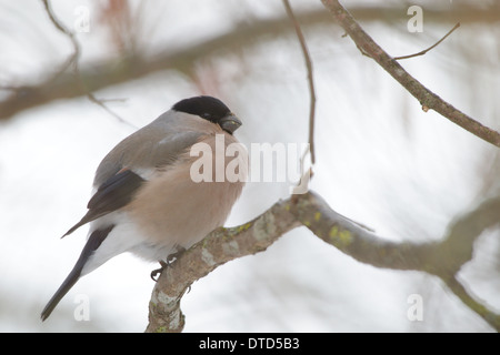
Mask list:
[[[118,143],[98,165],[87,213],[62,236],[90,224],[79,258],[41,320],[50,316],[80,277],[111,257],[131,252],[162,263],[222,226],[244,178],[194,182],[191,166],[197,156],[190,151],[196,144],[216,148],[218,136],[224,148],[241,144],[233,136],[241,124],[221,100],[199,95],[177,102]],[[238,159],[244,164],[244,156]]]

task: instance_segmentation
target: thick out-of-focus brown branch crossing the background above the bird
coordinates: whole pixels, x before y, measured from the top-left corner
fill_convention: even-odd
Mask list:
[[[351,12],[363,21],[383,21],[386,23],[397,22],[401,18],[400,8],[373,8],[354,7]],[[472,6],[453,6],[452,9],[426,9],[427,22],[452,22],[460,19],[462,24],[467,23],[496,23],[498,21],[498,9],[492,7],[478,8]],[[324,10],[310,10],[297,14],[303,28],[322,27],[331,23],[331,16]],[[0,102],[0,121],[8,120],[14,114],[38,105],[47,104],[58,99],[72,99],[87,95],[114,84],[146,77],[160,70],[174,69],[180,72],[190,72],[197,60],[210,58],[221,49],[234,52],[238,48],[251,45],[259,40],[269,40],[276,36],[291,31],[288,26],[289,18],[277,17],[263,19],[249,23],[241,23],[218,38],[193,44],[189,48],[172,51],[171,48],[160,49],[153,58],[143,58],[140,53],[119,59],[88,63],[80,65],[80,78],[84,88],[74,80],[73,73],[59,72],[56,78],[46,75],[46,80],[37,83],[2,83],[0,89],[10,91],[4,100]],[[68,68],[71,58],[64,64]],[[64,65],[62,69],[64,69]],[[42,74],[37,75],[43,78]],[[56,80],[57,79],[57,80]]]

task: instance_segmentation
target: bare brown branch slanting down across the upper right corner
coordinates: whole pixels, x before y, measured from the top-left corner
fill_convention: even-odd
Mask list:
[[[392,75],[404,89],[408,90],[422,108],[432,109],[451,122],[460,125],[476,136],[500,148],[500,133],[473,120],[460,110],[442,100],[436,93],[423,87],[417,79],[411,77],[392,57],[390,57],[363,29],[356,22],[353,17],[339,3],[338,0],[321,0],[330,10],[336,21],[346,30],[356,45],[368,53],[389,74]]]

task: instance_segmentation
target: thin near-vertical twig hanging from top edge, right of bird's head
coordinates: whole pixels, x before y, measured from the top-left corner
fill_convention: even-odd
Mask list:
[[[302,53],[306,60],[306,67],[308,70],[308,82],[309,82],[309,94],[310,94],[310,106],[309,106],[309,151],[311,153],[311,163],[316,163],[316,153],[314,153],[314,116],[316,116],[316,89],[314,89],[314,78],[312,73],[312,60],[309,54],[308,45],[306,43],[306,38],[303,37],[302,29],[300,28],[299,21],[297,21],[293,10],[288,0],[283,0],[284,9],[287,10],[287,14],[290,20],[293,22],[293,27],[296,28],[297,38],[299,39],[300,47],[302,49]]]

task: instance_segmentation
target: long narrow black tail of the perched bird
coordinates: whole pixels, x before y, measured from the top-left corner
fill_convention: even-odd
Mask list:
[[[70,288],[77,283],[87,261],[92,255],[92,253],[97,251],[97,248],[106,240],[109,232],[111,232],[113,227],[114,225],[110,225],[106,229],[97,230],[92,232],[92,234],[90,234],[89,240],[87,241],[87,244],[83,247],[80,257],[77,261],[77,264],[74,264],[73,270],[71,270],[68,277],[66,277],[62,285],[58,288],[52,298],[50,298],[47,306],[43,308],[40,316],[42,321],[47,320],[50,316],[53,308],[56,308],[56,306],[58,305],[59,301],[61,301],[61,298],[68,293],[68,291],[70,291]]]

